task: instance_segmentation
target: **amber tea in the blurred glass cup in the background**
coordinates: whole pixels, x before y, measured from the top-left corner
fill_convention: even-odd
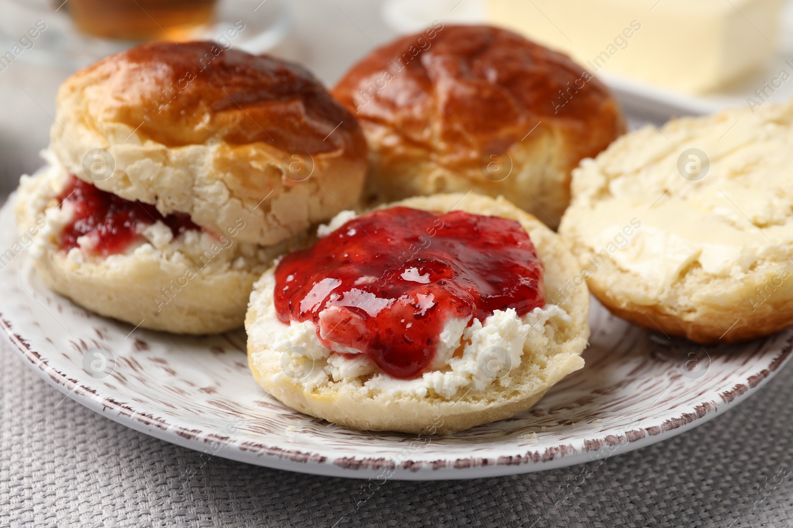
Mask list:
[[[216,0],[69,0],[77,28],[122,40],[189,40],[213,19]]]

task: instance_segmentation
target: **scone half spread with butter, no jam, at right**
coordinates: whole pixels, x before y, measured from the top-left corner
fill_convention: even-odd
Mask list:
[[[561,231],[616,315],[699,343],[793,324],[793,103],[644,127],[573,171]],[[563,299],[570,283],[550,298]]]

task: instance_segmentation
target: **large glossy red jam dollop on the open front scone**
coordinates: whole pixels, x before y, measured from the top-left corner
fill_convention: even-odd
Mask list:
[[[313,321],[324,346],[362,351],[393,378],[427,369],[451,318],[544,305],[542,263],[520,224],[463,211],[374,211],[275,270],[282,322]]]

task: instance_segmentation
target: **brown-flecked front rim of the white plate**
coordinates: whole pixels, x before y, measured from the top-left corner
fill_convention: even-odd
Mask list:
[[[0,207],[0,220],[10,216],[14,195],[15,193],[12,193],[8,196]],[[13,236],[16,237],[16,230],[13,230]],[[29,262],[26,252],[21,255],[21,260],[20,263],[15,264],[17,270],[21,270],[25,261],[28,265],[33,264]],[[17,276],[17,279],[21,279],[21,277]],[[54,292],[52,294],[63,298]],[[71,303],[69,299],[64,299]],[[2,310],[5,309],[6,307],[3,306]],[[93,315],[100,317],[96,314]],[[174,424],[173,420],[162,416],[153,416],[145,409],[138,410],[131,403],[113,401],[113,397],[102,397],[101,393],[104,391],[101,387],[95,388],[80,384],[78,380],[69,378],[67,373],[51,367],[48,364],[48,355],[34,350],[31,345],[32,340],[17,333],[15,326],[24,325],[17,325],[13,316],[0,312],[2,333],[10,340],[11,348],[25,365],[28,365],[40,378],[58,389],[60,393],[117,424],[168,443],[236,462],[326,477],[370,480],[384,478],[384,472],[390,473],[388,477],[385,477],[386,480],[400,481],[463,480],[534,473],[595,462],[601,459],[596,455],[603,449],[609,450],[604,458],[611,458],[615,454],[628,453],[672,438],[734,408],[735,405],[762,388],[793,357],[793,329],[767,336],[765,339],[776,338],[780,340],[780,344],[776,344],[775,348],[768,351],[770,357],[762,369],[754,370],[755,374],[741,380],[729,390],[718,393],[714,391],[703,395],[704,401],[687,404],[681,409],[670,409],[665,416],[654,418],[654,425],[636,425],[630,431],[628,431],[628,427],[611,427],[611,429],[593,432],[589,435],[577,437],[573,435],[573,438],[558,440],[550,445],[538,444],[537,450],[531,450],[531,446],[516,446],[517,449],[512,453],[505,450],[503,454],[486,454],[477,458],[472,456],[456,460],[454,457],[459,457],[459,454],[451,454],[447,458],[438,458],[435,461],[413,461],[398,459],[393,453],[379,458],[373,456],[357,458],[355,456],[334,457],[330,452],[287,450],[282,446],[239,442],[215,432]],[[713,398],[714,395],[716,398]],[[672,414],[672,410],[675,411],[674,414]],[[641,424],[642,421],[640,420],[636,424]],[[573,446],[573,443],[581,444],[580,449]],[[211,453],[207,453],[206,447],[210,445],[214,445],[213,450]]]

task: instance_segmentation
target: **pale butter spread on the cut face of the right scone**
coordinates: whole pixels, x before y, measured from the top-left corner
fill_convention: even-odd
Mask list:
[[[772,112],[782,118],[773,118]],[[656,293],[691,265],[740,278],[758,260],[784,259],[793,243],[791,105],[727,112],[638,131],[573,174],[569,222],[593,253],[604,249]],[[730,126],[732,125],[732,128]],[[691,147],[710,164],[684,178],[678,158]],[[614,248],[615,234],[641,223]],[[637,222],[638,221],[638,222]],[[607,246],[611,244],[611,248]]]

